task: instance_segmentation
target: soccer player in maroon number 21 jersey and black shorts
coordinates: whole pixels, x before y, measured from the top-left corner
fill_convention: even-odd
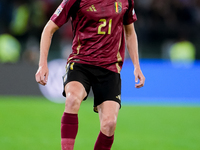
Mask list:
[[[36,81],[42,85],[48,79],[47,57],[52,36],[69,19],[74,38],[66,75],[63,76],[66,104],[61,119],[61,147],[62,150],[73,150],[78,131],[78,111],[92,88],[94,111],[100,118],[100,133],[94,150],[110,150],[121,107],[120,71],[125,40],[134,64],[135,87],[140,88],[145,82],[133,24],[137,20],[134,0],[63,0],[41,37]]]

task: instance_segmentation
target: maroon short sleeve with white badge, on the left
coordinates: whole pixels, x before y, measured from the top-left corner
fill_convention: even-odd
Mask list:
[[[50,19],[58,27],[64,25],[70,18],[70,9],[75,2],[76,0],[63,0]]]

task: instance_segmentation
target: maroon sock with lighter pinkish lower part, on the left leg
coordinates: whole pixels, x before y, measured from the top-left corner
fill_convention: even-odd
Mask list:
[[[78,132],[78,115],[64,113],[61,119],[62,150],[73,150]]]

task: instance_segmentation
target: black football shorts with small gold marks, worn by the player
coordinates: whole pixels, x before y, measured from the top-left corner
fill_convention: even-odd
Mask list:
[[[72,62],[66,67],[63,81],[64,87],[70,81],[80,82],[85,87],[87,96],[92,87],[95,112],[98,112],[97,106],[107,100],[116,101],[121,107],[121,78],[119,73],[98,66]],[[63,96],[66,96],[65,91],[63,91]],[[87,99],[87,96],[84,100]]]

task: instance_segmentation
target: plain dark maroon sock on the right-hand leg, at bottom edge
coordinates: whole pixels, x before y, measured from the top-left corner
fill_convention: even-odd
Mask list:
[[[94,150],[110,150],[114,141],[114,135],[106,136],[101,131],[94,146]]]

